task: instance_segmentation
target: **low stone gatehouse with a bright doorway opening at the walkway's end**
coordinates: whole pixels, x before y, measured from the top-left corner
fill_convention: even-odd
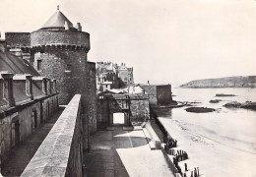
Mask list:
[[[114,114],[124,114],[124,126],[139,126],[150,118],[149,94],[140,87],[109,89],[98,93],[97,122],[114,126]]]

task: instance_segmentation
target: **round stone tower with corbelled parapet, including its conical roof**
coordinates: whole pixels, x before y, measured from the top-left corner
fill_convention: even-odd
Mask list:
[[[87,53],[90,34],[76,27],[57,9],[41,29],[31,33],[34,68],[57,80],[59,103],[67,104],[76,93],[87,92]],[[82,101],[83,104],[83,101]]]

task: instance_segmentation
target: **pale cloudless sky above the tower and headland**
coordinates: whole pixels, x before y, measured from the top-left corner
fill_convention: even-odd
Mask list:
[[[254,0],[1,0],[2,37],[39,29],[57,5],[91,34],[88,60],[126,63],[136,83],[256,75]]]

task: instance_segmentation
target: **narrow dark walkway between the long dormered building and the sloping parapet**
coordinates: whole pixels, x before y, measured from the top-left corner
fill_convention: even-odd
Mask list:
[[[64,107],[60,108],[50,119],[41,124],[32,135],[8,156],[2,164],[2,175],[5,177],[20,176],[32,159],[37,148],[50,132],[54,123],[58,120]]]

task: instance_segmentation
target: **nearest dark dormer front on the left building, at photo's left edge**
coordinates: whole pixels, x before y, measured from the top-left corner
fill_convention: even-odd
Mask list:
[[[9,106],[15,106],[15,98],[14,98],[14,89],[13,89],[13,77],[14,74],[10,73],[1,73],[2,78],[4,79],[4,91],[3,97],[8,101]]]

